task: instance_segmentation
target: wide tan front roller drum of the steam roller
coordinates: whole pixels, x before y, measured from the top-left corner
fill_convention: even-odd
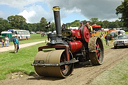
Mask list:
[[[34,66],[36,73],[39,76],[54,76],[54,77],[66,77],[73,71],[73,63],[63,64],[63,62],[71,60],[72,54],[69,53],[67,58],[64,50],[54,50],[43,52],[39,51],[35,57],[34,62],[39,62]]]

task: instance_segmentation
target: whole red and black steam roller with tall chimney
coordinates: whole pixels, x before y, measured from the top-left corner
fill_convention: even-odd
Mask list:
[[[74,69],[75,63],[91,61],[92,65],[101,65],[104,48],[99,37],[90,37],[88,26],[80,29],[61,28],[60,8],[53,7],[56,34],[49,33],[46,46],[38,48],[33,66],[39,76],[65,78]]]

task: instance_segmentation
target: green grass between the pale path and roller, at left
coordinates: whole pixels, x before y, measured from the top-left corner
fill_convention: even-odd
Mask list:
[[[6,79],[6,74],[23,71],[26,74],[34,72],[31,66],[34,56],[37,53],[39,46],[45,45],[38,44],[29,48],[20,49],[17,54],[13,51],[0,53],[0,80]]]

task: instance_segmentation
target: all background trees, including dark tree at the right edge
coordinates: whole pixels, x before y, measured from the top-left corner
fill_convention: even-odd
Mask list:
[[[100,21],[98,18],[91,18],[89,21],[83,20],[82,22],[90,22],[90,24],[101,25],[102,28],[128,28],[128,0],[122,1],[121,5],[116,8],[116,14],[121,14],[120,21]],[[26,19],[21,15],[9,16],[7,19],[0,18],[0,33],[8,29],[23,29],[29,31],[53,31],[55,30],[55,24],[51,23],[50,29],[46,29],[47,20],[42,17],[39,23],[27,23]],[[75,20],[71,23],[66,23],[66,27],[79,27],[80,20]]]

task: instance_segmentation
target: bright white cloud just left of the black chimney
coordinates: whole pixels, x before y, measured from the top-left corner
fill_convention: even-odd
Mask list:
[[[40,22],[42,17],[46,18],[48,21],[51,21],[53,17],[52,13],[50,13],[49,11],[46,11],[40,5],[32,5],[30,7],[27,7],[25,8],[24,11],[19,13],[19,15],[24,16],[27,22],[29,23]]]

